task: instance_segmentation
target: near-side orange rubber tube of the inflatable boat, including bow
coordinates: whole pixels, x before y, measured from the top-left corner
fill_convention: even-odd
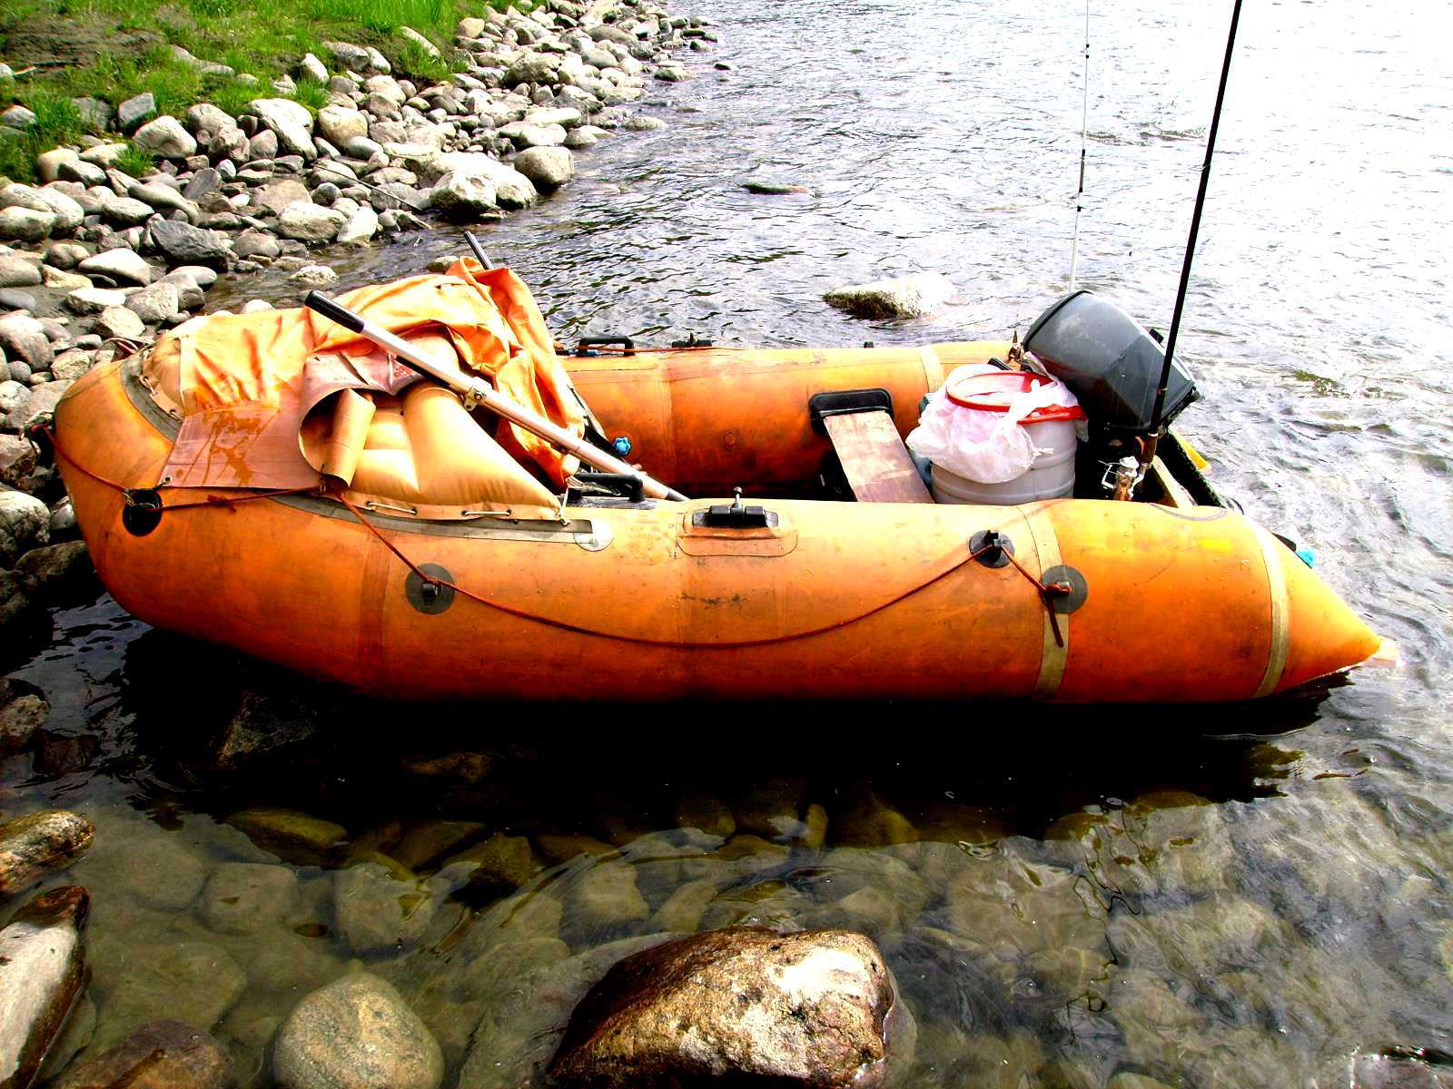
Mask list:
[[[670,386],[664,360],[632,373]],[[895,402],[931,378],[920,370]],[[429,598],[378,534],[320,498],[190,505],[128,530],[119,488],[155,486],[174,434],[138,389],[124,364],[100,367],[55,414],[61,472],[108,590],[150,624],[365,693],[1228,701],[1298,687],[1379,646],[1250,520],[1142,502],[773,499],[779,524],[747,531],[695,526],[711,499],[571,508],[559,526],[365,515],[416,566],[474,595]],[[609,421],[612,388],[581,389]],[[665,441],[635,427],[648,446]],[[716,457],[696,475],[732,468]],[[1082,601],[1052,620],[1014,565],[969,559],[987,529],[1007,533],[1036,578],[1071,568]]]

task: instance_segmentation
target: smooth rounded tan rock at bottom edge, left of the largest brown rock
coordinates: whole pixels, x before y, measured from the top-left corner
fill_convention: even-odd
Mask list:
[[[273,1041],[282,1089],[439,1089],[443,1053],[392,986],[355,973],[308,995]]]

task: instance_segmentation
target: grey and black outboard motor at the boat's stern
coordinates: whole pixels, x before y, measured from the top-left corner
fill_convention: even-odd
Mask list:
[[[1040,314],[1024,348],[1069,386],[1090,417],[1090,439],[1077,472],[1085,482],[1100,479],[1106,469],[1113,472],[1135,453],[1136,439],[1170,424],[1200,396],[1180,360],[1173,360],[1162,418],[1152,420],[1164,350],[1130,315],[1087,290],[1071,292]]]

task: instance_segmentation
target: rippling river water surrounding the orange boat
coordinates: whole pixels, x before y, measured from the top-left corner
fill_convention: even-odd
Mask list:
[[[481,231],[561,335],[998,338],[1067,287],[1082,7],[696,12],[722,44],[648,105],[668,126],[602,142],[561,195]],[[1190,0],[1091,12],[1081,280],[1159,328],[1228,17]],[[530,957],[745,919],[875,934],[915,1015],[912,1085],[1331,1086],[1360,1054],[1453,1050],[1450,29],[1450,9],[1405,0],[1247,7],[1180,341],[1206,395],[1181,430],[1250,514],[1315,549],[1399,643],[1398,668],[1199,713],[360,707],[102,598],[58,613],[55,646],[17,671],[51,700],[57,745],[7,764],[0,794],[97,823],[71,874],[97,905],[92,1054],[177,1013],[266,1085],[278,1019],[360,958],[439,1035],[446,1085],[461,1067],[465,1086],[503,1085],[552,1025],[479,964],[542,979],[523,974],[542,970]],[[806,192],[756,196],[748,179]],[[437,229],[339,256],[340,286],[461,241]],[[914,270],[949,274],[959,298],[901,324],[821,302]],[[269,276],[221,290],[286,293]],[[238,707],[312,739],[218,768],[206,739]],[[280,833],[257,807],[314,823]],[[324,842],[321,861],[384,852],[423,884],[317,865],[330,836],[350,847]],[[523,851],[523,876],[465,883],[448,858],[479,841],[494,848],[477,861]],[[294,884],[235,909],[219,877],[234,861]],[[427,910],[391,923],[400,889]],[[526,931],[545,941],[504,957],[468,937],[526,900],[552,906]],[[360,921],[371,910],[382,922]],[[469,1063],[481,1016],[516,1035]]]

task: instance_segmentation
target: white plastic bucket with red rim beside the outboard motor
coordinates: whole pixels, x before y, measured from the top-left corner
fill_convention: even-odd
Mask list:
[[[992,427],[1014,399],[1055,383],[1030,370],[978,370],[952,376],[943,395],[955,412],[984,414]],[[1055,383],[1058,385],[1058,383]],[[1069,398],[1072,401],[1072,398]],[[933,498],[937,502],[1014,505],[1056,499],[1075,491],[1077,421],[1085,414],[1078,405],[1042,405],[1019,421],[1029,430],[1035,459],[1021,475],[1001,482],[975,481],[942,465],[933,466]]]

